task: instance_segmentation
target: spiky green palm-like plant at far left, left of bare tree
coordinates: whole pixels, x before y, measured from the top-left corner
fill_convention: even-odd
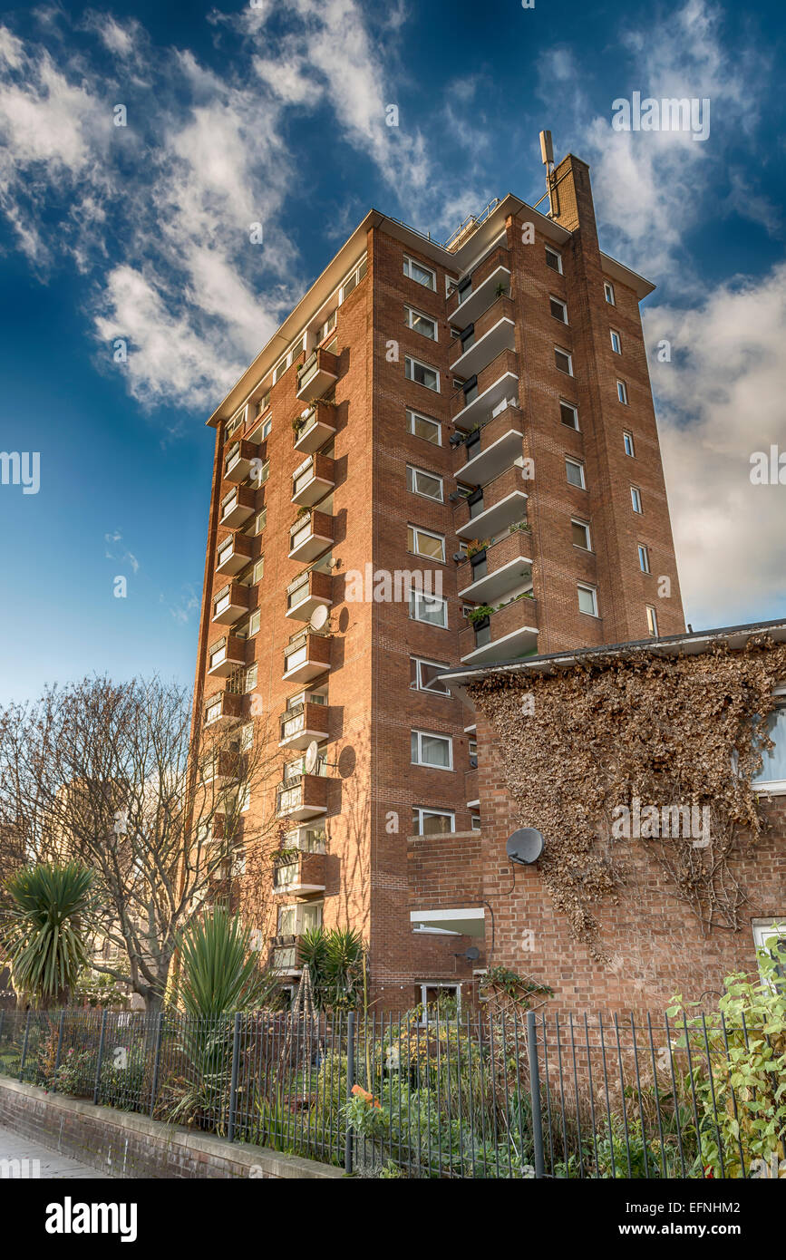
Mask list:
[[[62,1003],[88,966],[82,916],[93,874],[81,862],[39,862],[5,883],[11,898],[3,926],[14,987],[43,1005]]]

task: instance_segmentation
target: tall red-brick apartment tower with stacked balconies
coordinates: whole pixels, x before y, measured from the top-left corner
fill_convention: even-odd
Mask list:
[[[360,930],[384,1009],[466,994],[490,940],[475,714],[437,675],[684,630],[652,285],[584,163],[548,181],[445,244],[370,210],[209,420],[198,712],[281,766],[241,895],[290,983],[300,934]]]

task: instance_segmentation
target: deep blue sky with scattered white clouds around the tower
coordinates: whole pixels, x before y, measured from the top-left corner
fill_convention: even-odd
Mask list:
[[[748,476],[786,450],[785,60],[775,4],[0,5],[0,447],[42,469],[0,486],[0,698],[190,682],[212,406],[370,205],[445,238],[539,198],[542,127],[658,284],[689,620],[786,612],[786,486]],[[709,98],[709,137],[615,132],[632,92]]]

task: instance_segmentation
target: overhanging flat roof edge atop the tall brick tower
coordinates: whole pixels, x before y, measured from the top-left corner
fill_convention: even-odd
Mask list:
[[[278,326],[253,362],[246,368],[246,372],[243,372],[224,398],[222,398],[207,423],[217,427],[222,420],[229,420],[238,407],[262,384],[271,368],[275,367],[292,341],[305,331],[320,306],[328,301],[334,290],[341,284],[354,260],[360,257],[365,249],[367,236],[370,228],[384,227],[384,231],[389,236],[402,241],[411,249],[417,249],[427,258],[432,258],[433,262],[461,276],[467,270],[470,261],[479,253],[482,253],[494,238],[499,236],[508,215],[519,214],[520,210],[527,210],[532,214],[539,229],[558,244],[564,244],[566,241],[571,239],[572,233],[567,228],[563,228],[561,223],[554,223],[547,214],[535,210],[534,207],[528,205],[519,197],[514,197],[513,193],[508,193],[480,226],[475,231],[469,232],[466,239],[457,249],[446,249],[438,241],[432,241],[430,236],[418,232],[417,228],[412,228],[407,223],[389,218],[382,210],[372,208],[344,242],[339,252],[334,255],[321,275],[317,276],[300,301],[292,307],[283,324]],[[637,272],[631,271],[630,267],[625,267],[624,263],[617,262],[610,255],[601,253],[601,260],[608,275],[618,280],[620,284],[625,284],[632,289],[639,301],[655,289],[655,285],[651,285],[649,280],[644,280]]]

